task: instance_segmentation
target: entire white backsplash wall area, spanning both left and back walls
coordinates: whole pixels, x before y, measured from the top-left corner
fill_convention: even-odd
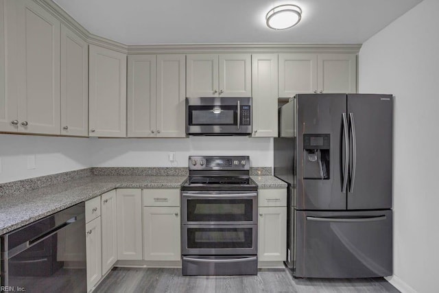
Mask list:
[[[169,161],[175,152],[175,161]],[[87,167],[187,167],[189,155],[248,155],[250,165],[273,166],[273,139],[87,139],[0,134],[0,183]]]

